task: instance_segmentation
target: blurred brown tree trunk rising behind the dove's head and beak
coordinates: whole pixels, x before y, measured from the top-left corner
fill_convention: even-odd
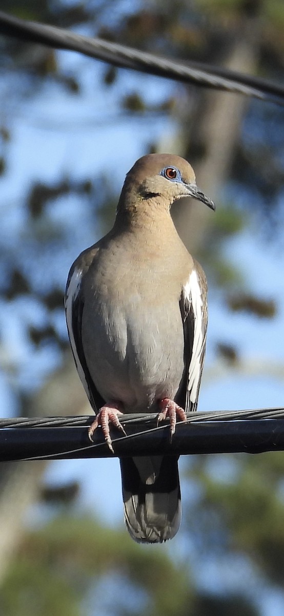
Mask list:
[[[238,39],[232,44],[231,54],[226,64],[227,68],[242,73],[253,73],[258,57],[258,48],[254,41]],[[221,198],[222,185],[226,182],[231,169],[235,145],[239,140],[242,118],[248,105],[248,99],[230,92],[208,92],[205,95],[202,110],[197,110],[192,136],[183,134],[179,137],[179,152],[187,148],[185,140],[198,145],[202,151],[200,160],[194,160],[194,148],[189,161],[194,166],[197,185],[216,201]],[[203,108],[204,107],[204,108]],[[210,225],[212,213],[202,204],[192,199],[184,199],[173,208],[173,220],[184,244],[193,253],[206,240],[207,227]]]

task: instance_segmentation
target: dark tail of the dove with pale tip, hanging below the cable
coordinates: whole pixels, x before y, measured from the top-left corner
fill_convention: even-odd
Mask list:
[[[135,541],[161,543],[178,532],[181,493],[178,458],[121,458],[124,517]]]

